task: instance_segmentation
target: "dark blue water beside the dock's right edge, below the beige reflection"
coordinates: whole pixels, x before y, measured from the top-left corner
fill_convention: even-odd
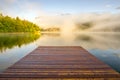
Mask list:
[[[91,49],[89,50],[93,55],[95,55],[98,59],[102,60],[109,66],[111,66],[116,71],[120,72],[120,49]]]

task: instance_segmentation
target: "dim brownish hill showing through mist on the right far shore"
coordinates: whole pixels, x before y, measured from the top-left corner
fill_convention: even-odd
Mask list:
[[[98,26],[100,24],[98,23]],[[98,27],[97,23],[77,23],[76,30],[77,31],[93,31],[93,32],[120,32],[120,25],[101,25]]]

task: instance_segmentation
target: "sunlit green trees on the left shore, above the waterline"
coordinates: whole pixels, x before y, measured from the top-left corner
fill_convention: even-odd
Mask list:
[[[0,14],[0,32],[36,32],[39,26],[19,17],[11,18]]]

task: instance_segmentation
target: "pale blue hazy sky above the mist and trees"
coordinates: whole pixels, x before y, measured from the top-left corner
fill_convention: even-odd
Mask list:
[[[0,12],[31,21],[45,14],[119,13],[120,0],[0,0]]]

